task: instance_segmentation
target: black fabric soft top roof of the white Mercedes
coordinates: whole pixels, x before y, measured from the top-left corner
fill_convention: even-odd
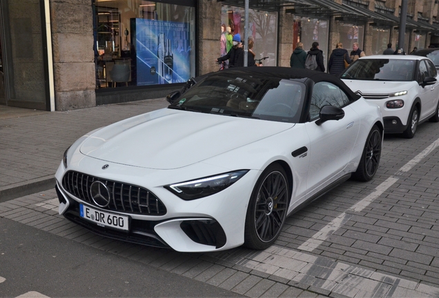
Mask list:
[[[211,74],[219,74],[221,72],[242,72],[246,74],[264,75],[270,77],[279,77],[283,79],[311,79],[314,83],[320,81],[328,81],[333,83],[342,89],[351,99],[360,99],[360,95],[356,95],[351,88],[349,88],[341,79],[333,76],[332,74],[327,74],[325,72],[320,72],[317,70],[306,70],[300,68],[286,68],[286,67],[275,67],[275,66],[262,66],[262,67],[242,67],[242,68],[228,68],[226,70],[220,70],[219,72],[212,72]],[[203,76],[204,77],[204,76]]]

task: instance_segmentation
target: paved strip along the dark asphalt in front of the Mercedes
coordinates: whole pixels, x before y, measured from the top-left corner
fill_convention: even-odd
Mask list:
[[[0,203],[0,217],[246,297],[438,297],[439,288],[282,246],[184,254],[95,235],[57,212],[55,190]]]

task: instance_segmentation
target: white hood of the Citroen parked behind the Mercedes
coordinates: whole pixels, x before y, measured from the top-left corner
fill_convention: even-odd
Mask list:
[[[409,90],[418,85],[416,81],[364,81],[342,79],[353,92],[360,91],[364,94],[389,94]]]

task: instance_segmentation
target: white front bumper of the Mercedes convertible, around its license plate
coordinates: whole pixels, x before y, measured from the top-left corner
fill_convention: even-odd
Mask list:
[[[88,166],[93,167],[93,159],[88,159]],[[101,161],[97,161],[101,164]],[[116,168],[116,165],[110,164]],[[140,168],[132,168],[118,165],[117,174],[111,173],[113,181],[124,181],[126,177],[142,177],[148,179],[150,173]],[[79,170],[78,168],[71,170]],[[90,172],[87,168],[81,168],[84,172]],[[142,171],[136,173],[136,171]],[[108,172],[108,171],[106,171]],[[125,212],[123,210],[106,210],[99,208],[92,201],[81,199],[78,192],[66,189],[61,183],[68,170],[61,163],[57,174],[57,195],[59,197],[59,214],[80,226],[95,232],[97,235],[128,241],[135,244],[155,246],[160,248],[172,248],[180,252],[209,252],[226,250],[240,246],[244,243],[244,225],[246,207],[251,195],[251,187],[257,179],[258,171],[250,171],[233,186],[226,188],[215,195],[184,201],[179,199],[162,186],[145,186],[153,190],[166,206],[166,214],[139,215],[138,213]],[[108,172],[110,173],[110,172]],[[151,173],[157,179],[161,173]],[[169,172],[164,173],[169,175]],[[100,175],[102,177],[102,174]],[[106,177],[102,177],[106,179]],[[138,181],[135,183],[139,185]],[[74,193],[72,195],[72,192]],[[84,204],[102,212],[129,217],[129,231],[117,230],[90,222],[80,216],[79,204]],[[134,205],[134,204],[133,204]]]

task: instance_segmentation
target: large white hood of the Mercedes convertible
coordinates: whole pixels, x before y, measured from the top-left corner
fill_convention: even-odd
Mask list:
[[[129,166],[182,168],[292,126],[165,108],[101,128],[79,150],[88,157]]]

